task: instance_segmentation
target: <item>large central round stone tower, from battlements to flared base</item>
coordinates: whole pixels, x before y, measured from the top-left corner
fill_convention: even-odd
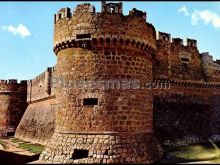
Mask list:
[[[54,19],[57,55],[55,133],[40,159],[48,163],[152,163],[152,81],[156,32],[146,13],[122,14],[122,3],[102,12],[80,4]]]

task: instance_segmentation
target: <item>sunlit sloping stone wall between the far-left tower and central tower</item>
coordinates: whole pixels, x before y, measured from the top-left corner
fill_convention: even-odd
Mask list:
[[[46,145],[55,128],[55,99],[29,104],[15,133],[15,137]]]

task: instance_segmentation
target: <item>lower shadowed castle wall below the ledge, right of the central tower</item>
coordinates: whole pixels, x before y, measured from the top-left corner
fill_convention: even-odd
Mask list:
[[[171,83],[154,90],[154,130],[165,146],[219,141],[219,86]]]

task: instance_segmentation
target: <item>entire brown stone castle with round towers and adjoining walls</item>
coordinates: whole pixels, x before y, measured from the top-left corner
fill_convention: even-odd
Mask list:
[[[163,146],[220,140],[220,62],[197,41],[156,32],[146,12],[84,3],[54,15],[57,64],[0,81],[0,134],[45,145],[47,163],[152,163]],[[169,88],[71,88],[54,81],[138,80]],[[60,80],[60,79],[59,79]],[[52,83],[53,82],[53,83]]]

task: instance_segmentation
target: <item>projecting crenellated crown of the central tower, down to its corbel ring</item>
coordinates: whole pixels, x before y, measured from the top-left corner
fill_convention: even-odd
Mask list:
[[[62,8],[55,14],[54,52],[73,47],[89,49],[97,44],[155,50],[155,28],[146,22],[146,12],[133,9],[124,16],[122,3],[102,2],[101,9],[101,13],[96,13],[93,5],[83,3],[72,13],[69,8]]]

